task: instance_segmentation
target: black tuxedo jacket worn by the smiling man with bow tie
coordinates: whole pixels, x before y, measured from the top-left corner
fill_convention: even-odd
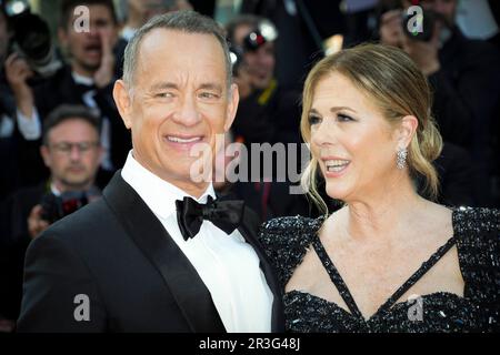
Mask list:
[[[256,221],[247,210],[239,231],[260,257],[274,297],[271,328],[282,332],[281,290],[257,241]],[[17,329],[226,331],[194,267],[121,171],[101,200],[54,223],[30,244]]]

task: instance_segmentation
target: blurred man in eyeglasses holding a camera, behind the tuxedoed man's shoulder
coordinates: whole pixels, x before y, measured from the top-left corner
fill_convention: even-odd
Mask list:
[[[103,153],[99,118],[83,105],[61,105],[43,126],[40,153],[50,178],[18,191],[4,204],[9,221],[2,226],[2,244],[9,251],[9,270],[0,275],[0,307],[6,308],[0,313],[12,320],[19,316],[28,244],[56,220],[100,196],[94,185]]]

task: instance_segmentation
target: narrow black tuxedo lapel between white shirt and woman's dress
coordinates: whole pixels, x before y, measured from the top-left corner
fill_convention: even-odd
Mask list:
[[[281,292],[280,283],[276,276],[276,272],[268,260],[268,256],[263,252],[262,245],[257,239],[257,227],[251,225],[252,221],[246,219],[243,215],[243,221],[238,231],[244,237],[247,243],[249,243],[259,256],[260,268],[263,271],[266,281],[268,282],[269,288],[273,295],[272,302],[272,320],[271,320],[271,331],[272,332],[284,332],[284,314],[283,314],[283,294]]]

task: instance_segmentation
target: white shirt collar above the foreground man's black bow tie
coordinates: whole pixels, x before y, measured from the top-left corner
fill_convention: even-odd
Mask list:
[[[167,219],[172,213],[176,213],[176,200],[182,200],[184,196],[190,196],[199,203],[206,203],[209,195],[212,196],[212,199],[217,199],[211,183],[203,194],[197,199],[154,175],[133,158],[132,150],[127,156],[127,161],[121,171],[121,176],[133,190],[136,190],[151,211],[162,219]]]

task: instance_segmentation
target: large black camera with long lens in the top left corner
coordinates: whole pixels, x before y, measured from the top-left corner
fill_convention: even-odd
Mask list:
[[[53,47],[48,23],[31,12],[28,0],[0,0],[11,26],[10,52],[23,58],[36,74],[47,78],[62,67]]]

